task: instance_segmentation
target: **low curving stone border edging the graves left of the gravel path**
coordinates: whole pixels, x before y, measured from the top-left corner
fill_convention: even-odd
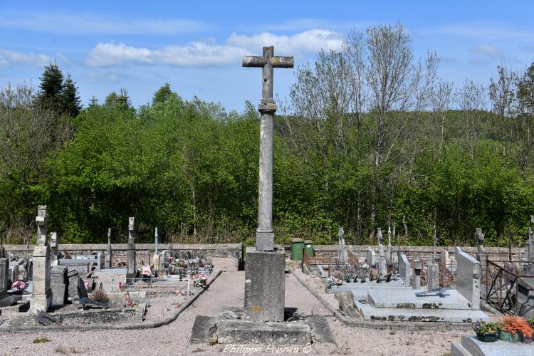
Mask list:
[[[206,289],[211,286],[211,283],[213,283],[217,277],[221,275],[223,271],[217,271],[217,273],[214,274],[214,277],[211,278],[211,280],[208,281]],[[184,310],[186,310],[189,305],[192,305],[199,296],[204,293],[204,290],[199,290],[195,295],[192,296],[192,298],[189,298],[187,302],[184,303],[177,311],[175,311],[172,315],[165,318],[164,320],[158,320],[148,323],[142,323],[142,324],[132,324],[132,325],[113,325],[113,324],[91,324],[91,325],[57,325],[57,326],[14,326],[9,328],[0,328],[0,333],[25,333],[27,331],[68,331],[68,330],[135,330],[135,329],[153,329],[153,328],[159,328],[164,325],[168,325],[172,323],[174,320],[178,318],[180,314]]]

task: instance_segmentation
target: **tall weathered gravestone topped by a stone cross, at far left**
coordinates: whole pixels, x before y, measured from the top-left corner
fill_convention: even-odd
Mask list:
[[[36,216],[37,244],[33,248],[33,295],[30,303],[33,314],[38,313],[38,310],[46,312],[52,305],[51,251],[46,240],[47,222],[46,205],[39,205]]]

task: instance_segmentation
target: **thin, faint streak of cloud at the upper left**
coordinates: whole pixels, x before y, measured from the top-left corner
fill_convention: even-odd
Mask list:
[[[96,13],[2,11],[0,28],[48,33],[189,33],[212,29],[208,23],[185,19],[121,19]]]

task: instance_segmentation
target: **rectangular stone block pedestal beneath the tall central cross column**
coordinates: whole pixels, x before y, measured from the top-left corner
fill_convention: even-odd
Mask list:
[[[286,288],[283,250],[246,249],[245,313],[248,320],[283,321]]]

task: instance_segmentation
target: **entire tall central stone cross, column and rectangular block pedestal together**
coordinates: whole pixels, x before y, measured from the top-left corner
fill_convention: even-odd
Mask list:
[[[244,67],[262,68],[258,229],[256,251],[247,248],[245,265],[245,314],[248,320],[284,319],[286,255],[274,248],[273,230],[273,68],[293,68],[293,57],[274,57],[274,47],[263,47],[263,56],[244,57]]]

